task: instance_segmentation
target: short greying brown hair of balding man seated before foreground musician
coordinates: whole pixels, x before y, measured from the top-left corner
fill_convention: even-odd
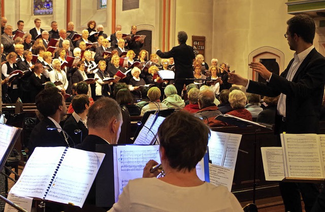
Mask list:
[[[116,118],[118,121],[122,120],[121,108],[114,99],[102,97],[89,108],[87,125],[89,128],[107,127],[112,118]]]

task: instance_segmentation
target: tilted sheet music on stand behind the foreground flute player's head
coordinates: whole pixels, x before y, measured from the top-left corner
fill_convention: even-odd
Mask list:
[[[136,145],[149,145],[152,142],[152,140],[155,139],[154,135],[157,134],[160,124],[163,123],[163,121],[165,120],[164,117],[158,116],[156,121],[152,125],[155,118],[156,118],[156,115],[150,114],[148,120],[144,124],[145,127],[142,127],[142,129],[139,132],[139,135],[138,135],[137,139],[135,140],[134,144],[136,144]],[[150,132],[150,130],[147,127],[152,132]]]

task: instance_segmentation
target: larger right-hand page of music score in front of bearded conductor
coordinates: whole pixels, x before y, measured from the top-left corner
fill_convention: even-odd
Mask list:
[[[289,178],[323,179],[319,154],[319,136],[316,134],[281,134],[285,176]]]

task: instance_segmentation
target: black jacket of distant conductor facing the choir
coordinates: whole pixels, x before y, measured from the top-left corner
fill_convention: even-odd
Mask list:
[[[173,47],[169,52],[157,51],[157,55],[161,58],[173,57],[175,61],[175,79],[193,78],[192,63],[195,59],[193,47],[186,44],[180,44]]]

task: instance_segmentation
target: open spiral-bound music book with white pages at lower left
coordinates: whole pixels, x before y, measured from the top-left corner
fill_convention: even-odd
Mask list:
[[[104,157],[68,147],[37,147],[10,193],[82,207]]]

